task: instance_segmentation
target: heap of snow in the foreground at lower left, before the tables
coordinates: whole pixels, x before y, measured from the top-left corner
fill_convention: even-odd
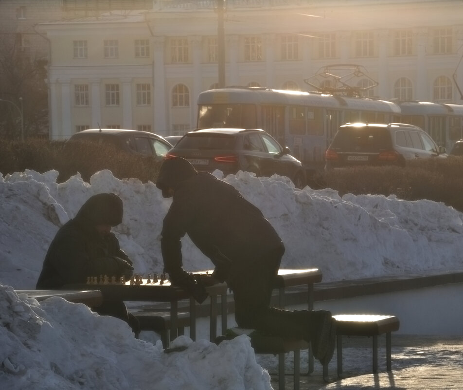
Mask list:
[[[0,285],[0,382],[9,390],[270,390],[245,335],[215,345],[180,336],[165,353],[79,303],[41,303]]]

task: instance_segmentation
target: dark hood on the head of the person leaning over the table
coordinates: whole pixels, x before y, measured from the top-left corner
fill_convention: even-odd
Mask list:
[[[170,198],[169,188],[176,189],[180,182],[196,175],[197,170],[184,158],[173,157],[165,160],[159,171],[156,186],[162,191],[164,198]]]

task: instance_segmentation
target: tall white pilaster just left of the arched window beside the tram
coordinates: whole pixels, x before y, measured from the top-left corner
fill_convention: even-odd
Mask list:
[[[168,135],[170,124],[167,121],[168,112],[165,90],[164,69],[164,37],[152,39],[153,47],[153,131],[159,135]]]

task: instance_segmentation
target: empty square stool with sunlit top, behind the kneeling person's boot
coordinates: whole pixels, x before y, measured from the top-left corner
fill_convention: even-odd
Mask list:
[[[396,316],[343,314],[333,316],[337,325],[338,376],[342,377],[342,336],[373,338],[373,372],[378,371],[378,335],[386,334],[386,370],[392,371],[391,333],[399,330]],[[325,374],[325,373],[324,373]]]

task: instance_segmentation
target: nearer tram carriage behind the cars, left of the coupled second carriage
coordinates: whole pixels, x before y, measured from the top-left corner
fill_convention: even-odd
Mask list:
[[[310,175],[324,166],[325,150],[347,122],[401,121],[386,100],[261,87],[227,87],[198,96],[198,128],[263,129],[288,146]]]

